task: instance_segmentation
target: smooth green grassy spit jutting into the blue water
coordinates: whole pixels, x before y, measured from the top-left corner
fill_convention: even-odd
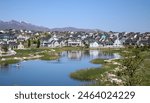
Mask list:
[[[104,59],[94,59],[91,61],[95,64],[103,64],[99,68],[81,69],[70,74],[73,79],[81,81],[91,81],[98,79],[103,73],[113,70],[117,65],[105,62]]]

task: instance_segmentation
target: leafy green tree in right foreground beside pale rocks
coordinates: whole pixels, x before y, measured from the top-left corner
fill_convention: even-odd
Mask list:
[[[124,85],[136,86],[142,83],[144,77],[143,60],[140,50],[137,48],[134,48],[130,53],[124,54],[118,71]]]

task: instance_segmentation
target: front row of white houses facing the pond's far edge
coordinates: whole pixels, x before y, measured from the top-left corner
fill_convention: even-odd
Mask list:
[[[114,39],[114,38],[113,38]],[[93,35],[70,35],[69,37],[59,37],[53,35],[51,38],[42,38],[41,46],[43,47],[63,47],[63,46],[88,46],[90,48],[98,47],[123,47],[123,42],[116,37],[111,39],[108,34]]]

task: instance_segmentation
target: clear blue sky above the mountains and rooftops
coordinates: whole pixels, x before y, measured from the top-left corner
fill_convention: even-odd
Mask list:
[[[0,0],[0,20],[105,31],[150,31],[150,0]]]

